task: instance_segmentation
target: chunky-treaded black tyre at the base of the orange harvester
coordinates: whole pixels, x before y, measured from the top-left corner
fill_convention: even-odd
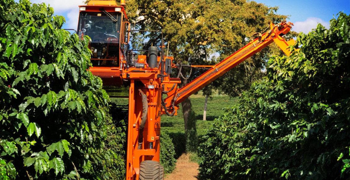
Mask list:
[[[163,180],[164,167],[157,161],[142,161],[139,180]]]

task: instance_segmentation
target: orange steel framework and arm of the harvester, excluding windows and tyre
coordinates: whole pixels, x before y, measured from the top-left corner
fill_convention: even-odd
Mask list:
[[[91,2],[93,2],[94,5],[92,5]],[[110,9],[105,9],[114,12],[114,7],[121,7],[116,4],[110,4],[112,2],[114,1],[90,1],[89,4],[86,5],[86,11],[88,11],[88,9],[90,9],[90,11],[99,11],[100,7],[108,6]],[[125,15],[124,7],[121,8]],[[123,20],[126,21],[126,15]],[[121,31],[124,31],[125,28],[123,26],[125,23],[121,23]],[[292,25],[293,24],[290,22],[281,22],[278,25],[271,23],[269,32],[254,39],[222,62],[219,62],[217,65],[196,66],[211,68],[204,74],[198,76],[195,80],[189,82],[186,86],[179,89],[177,88],[177,85],[180,84],[180,79],[170,78],[170,76],[164,72],[164,59],[168,58],[171,62],[173,62],[174,59],[173,57],[165,57],[164,54],[162,54],[163,58],[158,56],[157,63],[159,63],[160,66],[155,68],[149,68],[147,64],[145,64],[144,68],[127,67],[125,66],[127,65],[127,60],[125,59],[126,55],[123,55],[123,53],[120,53],[119,67],[90,67],[90,71],[94,75],[102,77],[104,83],[107,82],[110,85],[121,85],[121,83],[124,82],[124,84],[130,86],[126,179],[139,179],[140,163],[142,161],[153,160],[159,162],[161,114],[176,115],[176,110],[178,109],[177,105],[180,102],[272,42],[275,42],[283,52],[289,56],[290,52],[288,46],[294,45],[295,42],[294,40],[287,42],[281,35],[288,33]],[[128,39],[128,32],[121,32],[120,34],[120,39]],[[164,46],[162,46],[162,48],[163,47]],[[163,50],[164,49],[162,49],[162,51]],[[163,62],[161,63],[159,61]],[[143,62],[143,60],[141,61],[141,59],[139,59],[139,62]],[[175,64],[172,63],[170,66],[173,68],[176,67]],[[154,88],[148,88],[149,85],[154,86]],[[138,137],[143,111],[140,90],[147,95],[148,113],[143,131],[142,148],[138,149]],[[161,104],[162,92],[166,92],[168,95],[163,105]],[[153,147],[149,146],[150,144],[153,144]]]

